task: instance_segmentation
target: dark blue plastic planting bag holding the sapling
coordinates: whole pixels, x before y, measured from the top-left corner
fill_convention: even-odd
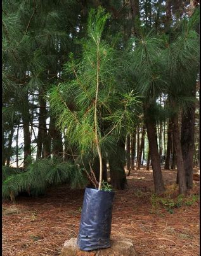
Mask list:
[[[110,247],[114,192],[86,188],[77,246],[91,251]]]

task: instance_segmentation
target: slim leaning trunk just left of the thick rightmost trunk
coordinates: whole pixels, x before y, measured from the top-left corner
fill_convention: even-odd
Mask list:
[[[172,118],[173,121],[173,133],[174,133],[174,147],[176,150],[176,162],[178,169],[178,183],[179,183],[179,193],[186,194],[186,174],[185,174],[185,166],[182,157],[181,150],[181,141],[179,138],[179,124],[178,124],[178,115],[174,115]]]

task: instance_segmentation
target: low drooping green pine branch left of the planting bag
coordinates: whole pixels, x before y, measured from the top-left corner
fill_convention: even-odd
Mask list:
[[[71,162],[58,162],[55,159],[39,159],[29,164],[25,171],[3,167],[3,199],[15,201],[21,192],[39,196],[49,185],[68,183],[71,188],[84,188],[88,183],[86,174]]]

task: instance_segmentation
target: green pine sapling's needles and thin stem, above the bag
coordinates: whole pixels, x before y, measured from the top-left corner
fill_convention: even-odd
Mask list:
[[[120,52],[103,40],[109,15],[99,7],[88,18],[88,37],[82,43],[81,58],[71,53],[64,66],[67,82],[49,90],[50,110],[56,126],[81,157],[90,155],[100,162],[98,189],[103,181],[103,154],[119,138],[122,129],[133,127],[134,108],[139,103],[133,90],[119,83]],[[88,163],[90,166],[90,164]]]

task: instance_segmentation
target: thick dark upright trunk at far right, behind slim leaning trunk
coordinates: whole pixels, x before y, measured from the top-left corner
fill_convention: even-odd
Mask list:
[[[192,96],[195,97],[195,88]],[[194,151],[195,104],[183,113],[181,125],[181,150],[186,173],[186,186],[193,188],[193,151]]]

